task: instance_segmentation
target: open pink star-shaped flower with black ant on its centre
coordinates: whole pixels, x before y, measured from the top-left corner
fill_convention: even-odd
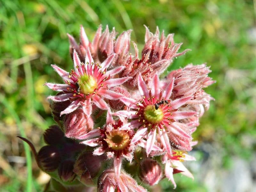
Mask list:
[[[176,100],[170,100],[173,88],[172,80],[160,91],[159,78],[157,74],[153,78],[153,85],[148,90],[141,75],[138,78],[140,100],[131,98],[121,98],[130,110],[118,111],[114,115],[120,118],[128,117],[131,119],[126,128],[137,129],[131,143],[134,144],[142,138],[147,139],[146,152],[151,152],[156,140],[159,138],[163,148],[169,154],[171,152],[168,133],[175,134],[175,137],[188,138],[191,140],[191,134],[183,130],[177,120],[196,115],[194,111],[179,111],[179,108],[185,105],[192,97],[184,97]]]

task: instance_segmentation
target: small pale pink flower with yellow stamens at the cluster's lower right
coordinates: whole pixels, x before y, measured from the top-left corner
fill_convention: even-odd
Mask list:
[[[182,164],[183,161],[195,161],[196,159],[183,151],[173,151],[172,155],[165,154],[163,156],[162,162],[165,164],[164,173],[165,176],[172,181],[174,189],[176,188],[176,183],[173,179],[173,174],[181,173],[187,177],[194,179],[191,172]]]

